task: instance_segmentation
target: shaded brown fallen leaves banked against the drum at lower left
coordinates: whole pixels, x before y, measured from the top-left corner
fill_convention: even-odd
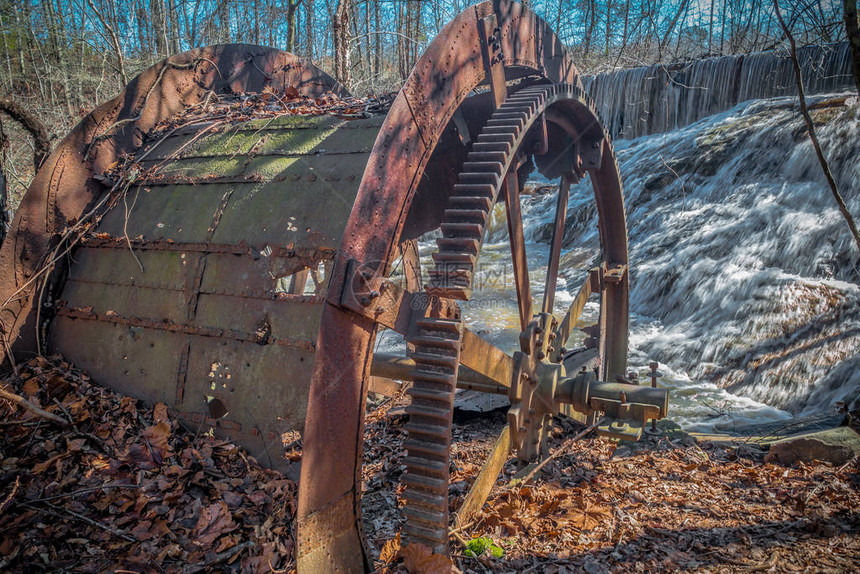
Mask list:
[[[59,359],[8,383],[72,424],[0,403],[0,570],[293,567],[296,489],[283,475]]]

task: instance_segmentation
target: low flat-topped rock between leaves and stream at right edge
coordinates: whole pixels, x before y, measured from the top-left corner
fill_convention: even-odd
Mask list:
[[[819,460],[842,465],[860,455],[860,435],[842,426],[782,439],[773,443],[765,462],[791,465]]]

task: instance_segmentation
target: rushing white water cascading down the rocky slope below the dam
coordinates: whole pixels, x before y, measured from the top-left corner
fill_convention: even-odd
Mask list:
[[[810,104],[833,174],[860,215],[860,107],[845,96]],[[647,380],[648,363],[660,362],[670,417],[730,430],[857,400],[860,265],[796,99],[745,102],[616,149],[631,255],[630,365]],[[524,196],[523,214],[539,301],[556,197],[539,176],[529,186],[538,188]],[[559,314],[598,256],[593,205],[586,178],[571,188]],[[513,351],[519,320],[503,211],[494,212],[464,315]],[[422,243],[425,268],[433,247]],[[597,314],[589,303],[581,324]]]

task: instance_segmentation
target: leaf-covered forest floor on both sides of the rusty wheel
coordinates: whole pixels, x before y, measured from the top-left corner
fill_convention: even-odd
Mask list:
[[[0,400],[0,571],[294,569],[295,483],[229,441],[59,359],[22,365],[3,389],[55,420]],[[379,572],[860,571],[857,459],[783,467],[670,430],[635,447],[570,442],[582,427],[568,419],[550,447],[566,454],[525,486],[509,486],[510,461],[478,520],[453,531],[450,560],[400,548],[403,403],[367,415],[364,526]],[[452,508],[504,415],[455,423]]]

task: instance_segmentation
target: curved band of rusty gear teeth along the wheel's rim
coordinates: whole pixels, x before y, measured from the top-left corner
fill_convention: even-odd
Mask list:
[[[501,188],[502,178],[536,114],[571,86],[535,85],[525,88],[495,111],[467,156],[454,185],[436,239],[435,265],[428,270],[427,294],[446,299],[471,297],[472,278],[484,230]],[[459,367],[462,321],[425,318],[409,342],[415,345],[414,383],[408,394],[408,439],[404,458],[406,486],[403,532],[444,552],[448,541],[448,480],[451,415]]]

